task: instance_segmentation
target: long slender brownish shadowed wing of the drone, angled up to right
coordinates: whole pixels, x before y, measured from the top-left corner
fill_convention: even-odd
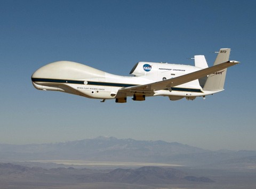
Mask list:
[[[204,76],[210,75],[211,73],[218,72],[220,70],[231,67],[235,64],[238,64],[237,61],[227,61],[220,63],[218,65],[213,65],[210,68],[205,68],[199,71],[191,72],[183,76],[166,79],[163,81],[157,81],[155,83],[150,83],[146,85],[137,85],[132,87],[125,87],[119,89],[118,93],[133,93],[133,92],[143,92],[143,93],[151,93],[152,91],[158,91],[161,89],[171,89],[171,87],[178,86],[181,84],[188,83],[189,81],[193,81]]]

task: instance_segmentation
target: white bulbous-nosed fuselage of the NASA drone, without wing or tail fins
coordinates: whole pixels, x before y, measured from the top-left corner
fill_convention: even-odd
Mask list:
[[[151,70],[143,70],[143,65],[148,64]],[[87,65],[70,61],[59,61],[45,65],[38,69],[31,77],[33,85],[37,89],[45,91],[61,91],[89,98],[111,99],[116,98],[120,88],[137,85],[145,85],[185,75],[201,70],[191,65],[167,64],[155,62],[139,62],[131,76],[118,76],[103,72]],[[145,67],[144,67],[145,68]],[[202,87],[198,80],[191,81],[177,87],[146,93],[146,96],[202,96]],[[133,96],[131,93],[129,96]]]

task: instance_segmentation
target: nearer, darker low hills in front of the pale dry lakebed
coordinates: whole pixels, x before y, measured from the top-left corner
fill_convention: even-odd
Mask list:
[[[17,179],[19,178],[19,179]],[[0,181],[15,180],[19,183],[127,183],[127,184],[175,184],[175,183],[213,183],[207,177],[196,177],[186,172],[161,167],[141,167],[138,169],[114,169],[110,171],[53,168],[44,169],[41,167],[26,167],[12,163],[0,163]],[[0,187],[1,187],[0,182]],[[37,185],[38,187],[38,185]]]

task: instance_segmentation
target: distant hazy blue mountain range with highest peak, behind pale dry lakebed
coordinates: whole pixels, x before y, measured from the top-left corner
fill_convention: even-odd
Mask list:
[[[47,144],[0,144],[0,161],[87,160],[172,163],[183,166],[252,167],[256,151],[210,151],[165,141],[99,136],[79,141]]]

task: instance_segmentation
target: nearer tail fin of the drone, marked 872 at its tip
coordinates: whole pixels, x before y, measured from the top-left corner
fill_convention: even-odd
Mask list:
[[[221,48],[213,65],[218,65],[229,60],[230,48]],[[223,90],[227,68],[208,76],[204,89],[208,91]]]

